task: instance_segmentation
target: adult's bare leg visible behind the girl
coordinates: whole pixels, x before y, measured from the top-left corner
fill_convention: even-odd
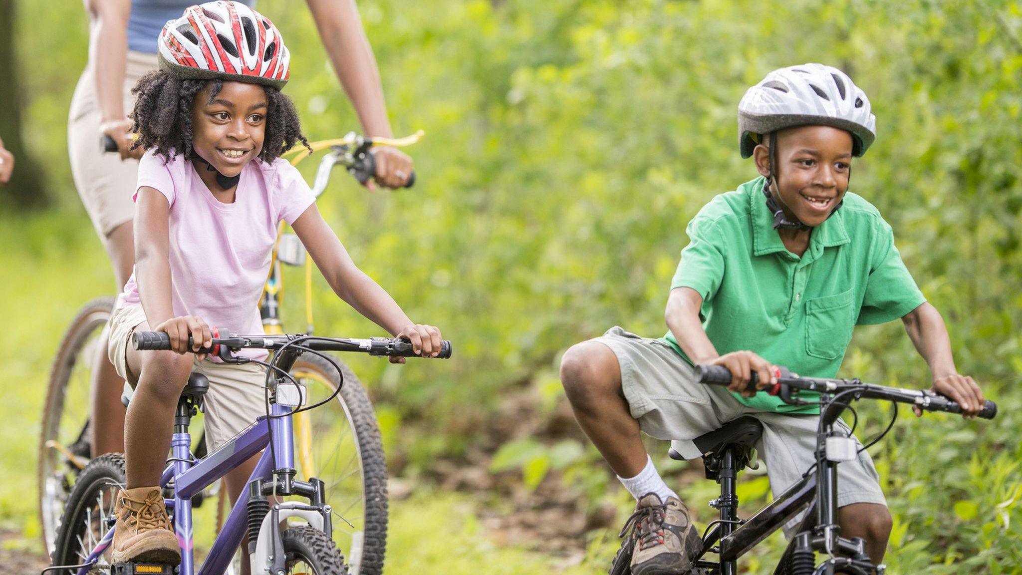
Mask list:
[[[106,253],[113,264],[113,275],[117,278],[118,291],[131,276],[135,266],[134,225],[131,220],[113,228],[103,242]],[[107,338],[109,334],[103,330],[95,350],[92,364],[92,393],[90,396],[89,421],[92,428],[92,456],[103,453],[123,452],[125,450],[125,414],[126,408],[121,403],[124,390],[124,379],[118,375],[107,353]]]

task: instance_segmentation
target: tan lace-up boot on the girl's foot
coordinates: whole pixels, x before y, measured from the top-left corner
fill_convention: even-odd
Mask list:
[[[113,515],[118,518],[111,558],[114,563],[181,563],[178,537],[167,519],[164,494],[158,487],[118,491]]]

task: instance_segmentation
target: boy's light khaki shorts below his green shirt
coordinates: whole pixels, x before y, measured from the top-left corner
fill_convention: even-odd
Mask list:
[[[696,382],[695,368],[669,345],[641,338],[620,327],[611,327],[600,338],[621,369],[621,387],[632,416],[646,434],[663,440],[691,440],[751,414],[763,425],[756,450],[766,463],[771,490],[784,492],[816,463],[819,415],[793,415],[748,407],[726,388]],[[839,428],[848,431],[844,422]],[[858,447],[862,443],[855,440]],[[838,468],[838,506],[851,503],[887,504],[880,489],[880,476],[867,451]],[[785,534],[797,527],[795,519]]]

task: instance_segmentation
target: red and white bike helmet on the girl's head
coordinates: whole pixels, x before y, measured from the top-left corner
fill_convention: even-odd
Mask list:
[[[290,54],[280,31],[244,4],[219,0],[189,6],[169,20],[157,44],[159,69],[181,80],[232,80],[280,89]]]

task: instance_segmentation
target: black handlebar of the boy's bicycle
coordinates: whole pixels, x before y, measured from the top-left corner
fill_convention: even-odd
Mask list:
[[[731,370],[724,365],[696,365],[696,373],[700,384],[713,386],[731,385]],[[770,395],[781,395],[784,393],[784,386],[796,390],[815,391],[820,393],[839,393],[843,391],[854,391],[861,397],[873,399],[886,399],[898,403],[911,403],[926,411],[946,411],[948,413],[961,413],[962,406],[957,402],[930,390],[905,390],[899,388],[888,388],[874,384],[864,384],[858,380],[827,380],[816,378],[802,378],[797,373],[792,373],[786,367],[778,367],[777,385],[763,390]],[[756,372],[752,372],[749,382],[749,390],[755,390],[759,378]],[[992,419],[997,414],[997,404],[987,399],[983,402],[983,408],[977,414],[984,419]]]

